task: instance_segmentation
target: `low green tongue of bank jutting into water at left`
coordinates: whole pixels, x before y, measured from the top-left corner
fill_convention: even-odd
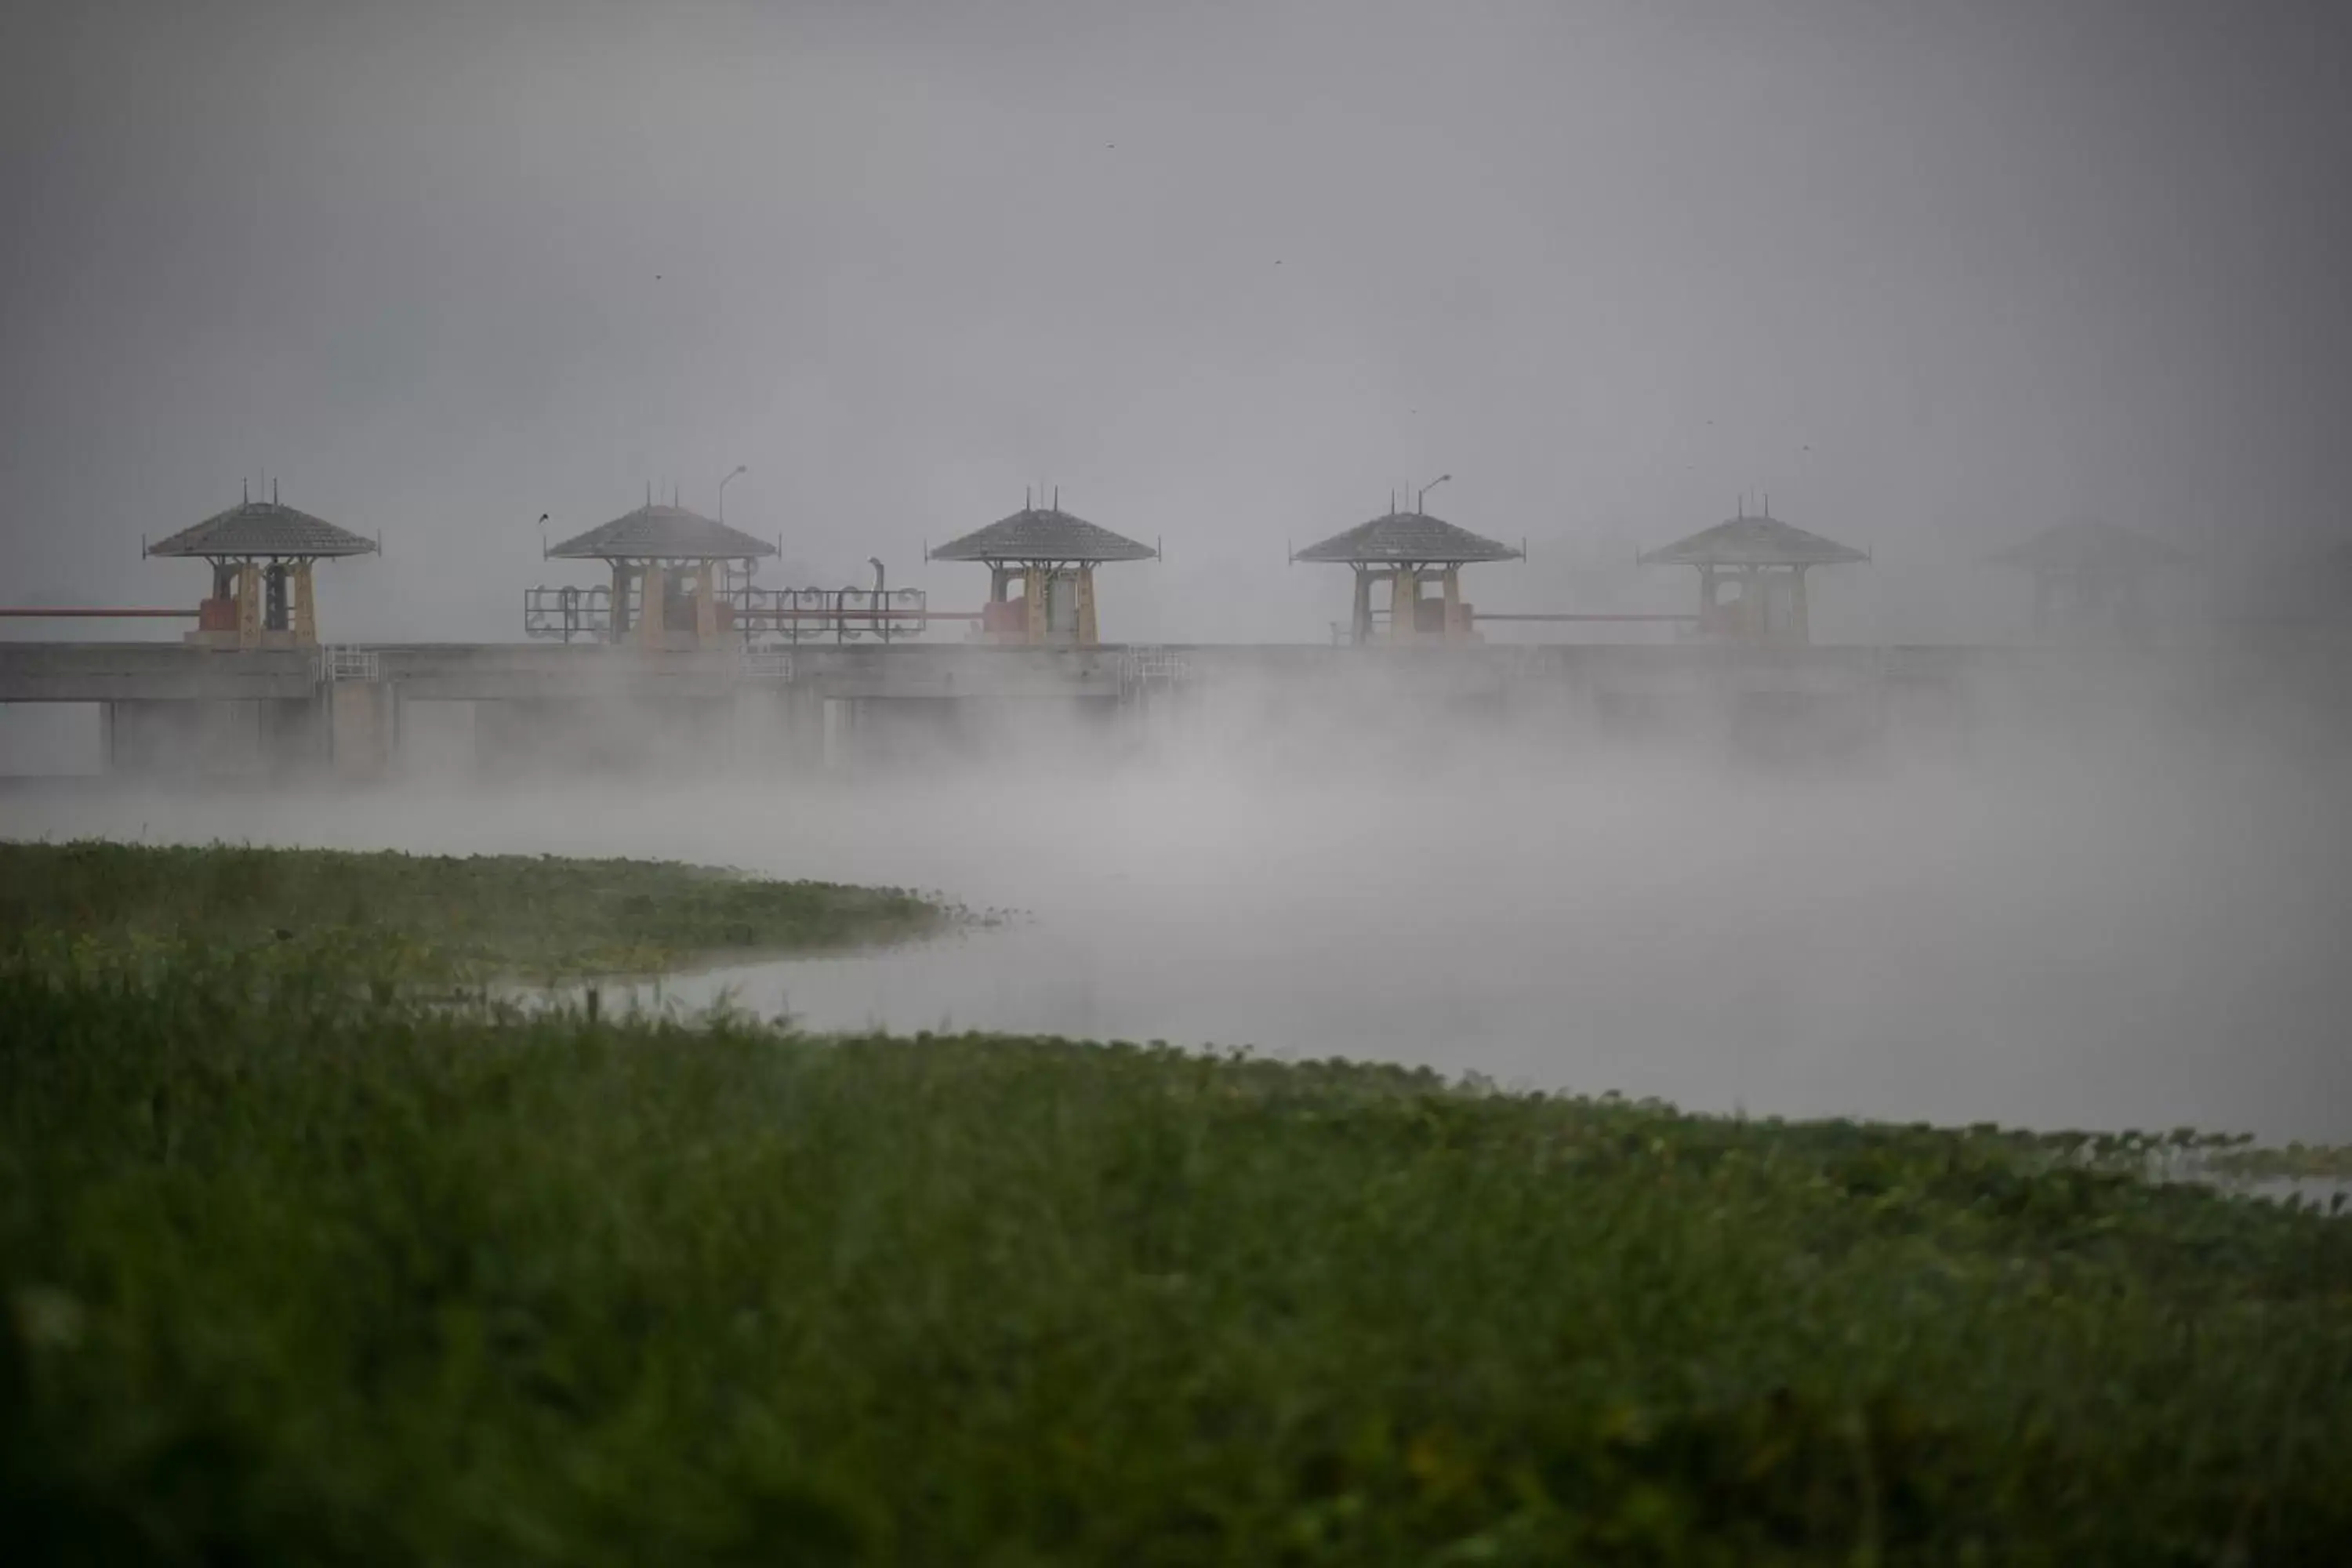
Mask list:
[[[278,950],[426,980],[652,973],[689,957],[922,936],[891,889],[762,882],[654,860],[325,849],[0,844],[0,945]]]

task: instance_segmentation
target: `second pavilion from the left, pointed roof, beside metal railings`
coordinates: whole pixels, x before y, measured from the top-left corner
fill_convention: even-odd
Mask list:
[[[661,505],[647,496],[635,512],[546,552],[548,559],[604,562],[612,588],[588,590],[588,599],[579,590],[536,588],[524,597],[524,628],[543,635],[536,618],[557,614],[567,639],[586,628],[607,642],[635,635],[647,649],[715,644],[734,628],[722,588],[748,583],[753,562],[774,552],[769,541],[729,529],[717,517],[691,512],[675,498]],[[550,597],[560,599],[557,611],[541,607]]]

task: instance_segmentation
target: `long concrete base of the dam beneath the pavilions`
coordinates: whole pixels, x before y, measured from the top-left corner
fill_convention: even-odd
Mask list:
[[[409,703],[470,703],[475,762],[757,769],[880,759],[908,741],[985,752],[1025,719],[1117,726],[1343,724],[1367,733],[1501,719],[1529,733],[1715,731],[1743,748],[1959,738],[1983,715],[2197,712],[2352,698],[2352,642],[2237,646],[981,646],[790,651],[386,644],[214,651],[0,642],[0,703],[99,703],[120,771],[376,778]],[[1080,731],[1084,733],[1084,731]]]

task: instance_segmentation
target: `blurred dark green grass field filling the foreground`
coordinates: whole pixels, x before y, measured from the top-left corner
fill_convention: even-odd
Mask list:
[[[101,882],[216,943],[5,896],[12,1561],[2352,1556],[2352,1220],[2140,1140],[522,1016],[207,853]],[[713,886],[506,865],[607,910],[532,961]]]

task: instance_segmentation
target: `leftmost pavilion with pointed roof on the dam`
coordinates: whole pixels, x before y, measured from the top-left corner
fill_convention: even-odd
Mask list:
[[[212,595],[188,642],[212,649],[318,646],[310,569],[343,555],[374,555],[376,541],[278,501],[245,496],[193,529],[143,545],[143,555],[212,562]]]

